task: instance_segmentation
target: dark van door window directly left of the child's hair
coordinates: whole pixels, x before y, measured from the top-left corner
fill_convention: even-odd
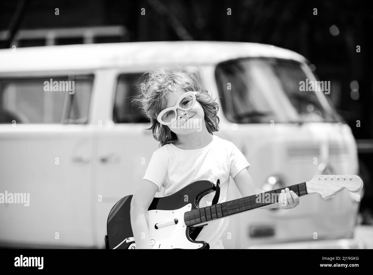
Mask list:
[[[113,111],[114,123],[150,122],[141,111],[138,101],[134,101],[134,98],[140,95],[136,87],[141,84],[141,75],[142,74],[119,75]]]

